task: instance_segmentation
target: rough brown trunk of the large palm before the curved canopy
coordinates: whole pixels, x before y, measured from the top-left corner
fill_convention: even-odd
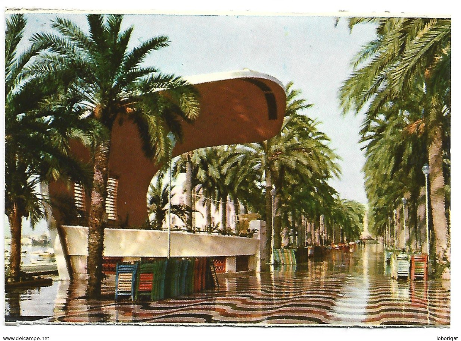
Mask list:
[[[110,140],[96,147],[93,190],[89,212],[87,274],[89,298],[98,298],[101,294],[102,256],[104,251],[104,229],[107,224],[106,197],[109,177]]]

